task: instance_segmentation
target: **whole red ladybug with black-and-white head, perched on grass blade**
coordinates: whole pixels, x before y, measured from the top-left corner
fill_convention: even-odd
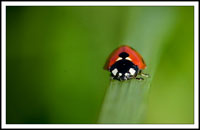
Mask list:
[[[127,45],[120,46],[115,49],[109,56],[104,69],[111,72],[112,79],[119,81],[135,78],[144,80],[140,76],[148,77],[148,74],[142,73],[146,68],[146,64],[142,56],[133,48]]]

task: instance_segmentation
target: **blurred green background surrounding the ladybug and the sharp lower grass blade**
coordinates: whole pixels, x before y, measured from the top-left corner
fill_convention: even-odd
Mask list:
[[[6,122],[96,123],[110,82],[104,63],[127,44],[153,68],[141,123],[194,123],[193,11],[6,7]]]

